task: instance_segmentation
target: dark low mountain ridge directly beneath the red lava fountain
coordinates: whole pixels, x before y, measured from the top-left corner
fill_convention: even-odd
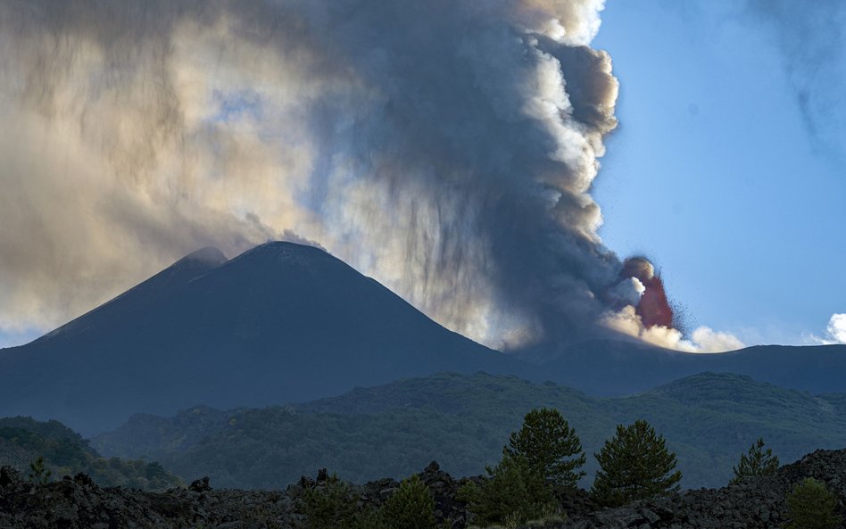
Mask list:
[[[846,345],[756,345],[697,354],[646,343],[593,340],[544,365],[544,376],[599,395],[626,395],[702,371],[728,372],[811,393],[846,393]]]

